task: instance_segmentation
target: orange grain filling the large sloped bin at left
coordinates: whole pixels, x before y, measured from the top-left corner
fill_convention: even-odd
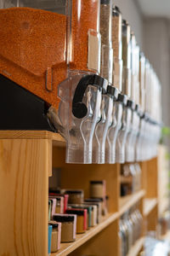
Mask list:
[[[42,9],[0,9],[0,73],[58,108],[67,76],[66,16]]]

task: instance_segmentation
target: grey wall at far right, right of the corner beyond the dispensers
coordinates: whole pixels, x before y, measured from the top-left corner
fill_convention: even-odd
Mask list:
[[[161,81],[163,122],[170,126],[170,23],[164,18],[144,20],[144,53]]]

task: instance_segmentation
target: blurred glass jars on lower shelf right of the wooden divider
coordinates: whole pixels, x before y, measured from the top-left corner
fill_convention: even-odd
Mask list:
[[[126,256],[135,241],[142,235],[142,221],[138,207],[132,207],[122,215],[119,230],[121,256]]]

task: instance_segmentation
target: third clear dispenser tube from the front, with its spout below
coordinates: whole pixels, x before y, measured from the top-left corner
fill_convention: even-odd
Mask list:
[[[122,15],[117,7],[112,9],[112,46],[113,58],[113,85],[122,92]],[[114,102],[112,113],[112,125],[107,133],[106,142],[106,162],[114,164],[116,162],[116,137],[122,126],[122,105],[126,101],[123,96],[118,96]]]

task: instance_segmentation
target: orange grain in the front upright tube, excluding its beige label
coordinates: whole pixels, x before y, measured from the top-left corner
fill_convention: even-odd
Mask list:
[[[88,31],[99,32],[99,0],[72,0],[71,69],[88,71]]]

